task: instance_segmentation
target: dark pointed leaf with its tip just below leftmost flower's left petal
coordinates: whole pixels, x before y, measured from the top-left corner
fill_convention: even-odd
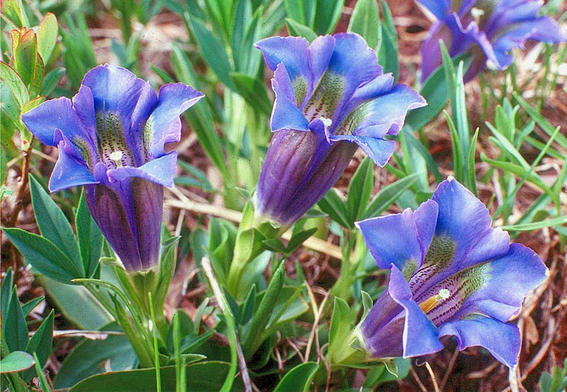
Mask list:
[[[79,246],[74,236],[69,220],[55,201],[47,194],[38,180],[30,174],[30,194],[35,220],[40,228],[41,235],[53,242],[69,259],[76,264],[79,271],[83,270]],[[84,274],[74,276],[84,277]]]

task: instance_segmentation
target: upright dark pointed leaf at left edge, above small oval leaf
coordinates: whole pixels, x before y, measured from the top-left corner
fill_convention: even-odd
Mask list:
[[[13,286],[11,301],[6,315],[2,315],[2,336],[10,352],[24,351],[28,346],[28,325],[26,316],[18,299],[18,291]]]

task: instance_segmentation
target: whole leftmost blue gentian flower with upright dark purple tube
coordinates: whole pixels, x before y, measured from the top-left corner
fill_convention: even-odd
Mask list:
[[[167,84],[159,96],[149,83],[115,65],[89,71],[73,99],[52,99],[22,121],[59,159],[50,191],[84,186],[87,206],[125,269],[159,260],[163,186],[173,186],[179,116],[203,95]]]

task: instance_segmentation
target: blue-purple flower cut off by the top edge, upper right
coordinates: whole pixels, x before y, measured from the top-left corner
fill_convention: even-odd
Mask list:
[[[567,35],[549,16],[538,16],[543,1],[537,0],[418,0],[434,17],[421,47],[421,78],[425,81],[442,65],[439,40],[449,55],[471,53],[473,60],[464,75],[468,82],[480,73],[487,60],[503,70],[512,63],[510,51],[523,49],[526,40],[546,43],[567,41]]]

